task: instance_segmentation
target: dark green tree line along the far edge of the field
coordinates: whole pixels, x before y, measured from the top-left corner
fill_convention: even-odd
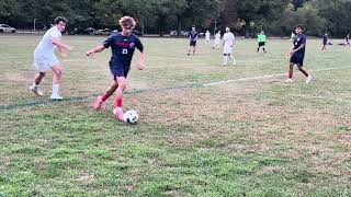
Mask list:
[[[68,19],[68,28],[118,27],[122,15],[136,19],[144,33],[189,31],[191,25],[214,32],[229,25],[236,33],[290,35],[297,23],[306,34],[344,36],[351,32],[350,0],[0,0],[0,23],[32,28]]]

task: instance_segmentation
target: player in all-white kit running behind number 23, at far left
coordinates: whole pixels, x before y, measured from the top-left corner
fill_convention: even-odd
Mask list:
[[[53,70],[53,92],[52,100],[63,100],[59,95],[59,82],[61,79],[61,66],[55,56],[55,50],[58,48],[61,57],[66,57],[64,50],[72,50],[72,47],[61,42],[61,32],[65,31],[67,20],[61,16],[57,16],[54,20],[54,26],[49,28],[43,36],[41,43],[34,50],[34,66],[38,73],[34,78],[34,83],[30,88],[36,95],[42,96],[44,93],[39,88],[42,79],[45,77],[45,72]]]

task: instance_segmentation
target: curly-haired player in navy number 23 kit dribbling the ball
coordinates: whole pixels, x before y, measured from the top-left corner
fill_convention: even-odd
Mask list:
[[[123,16],[120,19],[120,25],[122,27],[121,33],[113,33],[102,45],[87,51],[87,56],[91,57],[95,53],[100,53],[105,48],[111,47],[112,57],[110,60],[110,70],[113,74],[114,82],[110,89],[98,97],[93,107],[100,109],[103,102],[105,102],[114,92],[116,92],[115,108],[113,114],[120,119],[124,120],[122,97],[123,91],[126,86],[126,78],[131,69],[131,61],[135,48],[140,51],[139,70],[145,69],[146,55],[144,53],[144,46],[140,39],[132,33],[136,22],[131,16]]]

